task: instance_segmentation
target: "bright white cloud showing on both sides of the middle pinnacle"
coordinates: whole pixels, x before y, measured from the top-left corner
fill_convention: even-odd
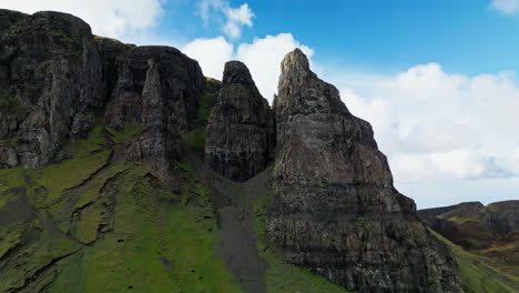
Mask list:
[[[236,51],[223,37],[196,39],[186,44],[183,52],[199,60],[204,73],[216,79],[222,79],[225,62],[231,59],[243,61],[251,70],[260,92],[272,102],[277,92],[281,61],[295,48],[301,48],[308,58],[314,54],[311,48],[301,44],[291,33],[256,38],[252,43],[238,44]]]

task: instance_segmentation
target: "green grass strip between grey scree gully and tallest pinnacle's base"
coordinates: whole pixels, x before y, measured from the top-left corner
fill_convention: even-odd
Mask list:
[[[308,270],[292,265],[284,261],[283,252],[267,243],[265,231],[266,208],[272,193],[260,198],[254,204],[254,229],[256,231],[257,249],[268,262],[265,284],[268,293],[346,293],[345,289],[314,275]],[[268,249],[266,249],[268,246]]]

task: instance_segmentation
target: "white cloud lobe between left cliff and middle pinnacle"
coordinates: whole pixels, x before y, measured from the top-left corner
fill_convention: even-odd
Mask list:
[[[186,44],[182,51],[199,61],[204,75],[221,79],[224,64],[231,60],[233,50],[232,43],[228,43],[223,37],[218,37],[196,39]]]

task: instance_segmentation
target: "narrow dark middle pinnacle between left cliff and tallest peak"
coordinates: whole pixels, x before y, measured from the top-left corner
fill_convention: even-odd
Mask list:
[[[244,181],[266,168],[274,146],[274,115],[268,102],[244,63],[227,62],[208,119],[206,164],[226,178]]]

